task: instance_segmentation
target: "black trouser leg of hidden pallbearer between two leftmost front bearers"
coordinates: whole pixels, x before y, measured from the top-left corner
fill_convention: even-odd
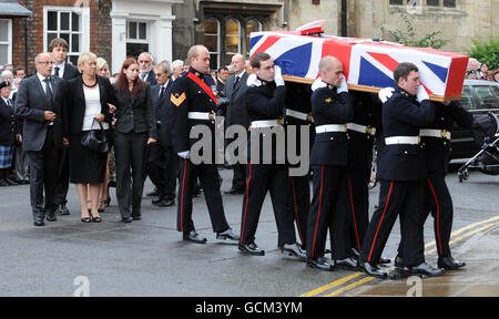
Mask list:
[[[305,249],[307,243],[308,210],[310,210],[310,179],[309,175],[289,176],[293,194],[293,213],[298,230],[299,241]]]

